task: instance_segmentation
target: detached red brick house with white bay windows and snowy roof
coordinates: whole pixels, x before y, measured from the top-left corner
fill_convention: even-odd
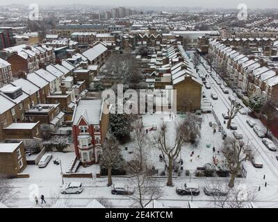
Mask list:
[[[109,123],[108,108],[105,104],[106,102],[101,99],[83,99],[74,110],[72,118],[74,148],[83,166],[95,164],[99,160]]]

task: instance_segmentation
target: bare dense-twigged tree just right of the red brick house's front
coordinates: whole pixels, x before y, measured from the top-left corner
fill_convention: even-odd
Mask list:
[[[120,152],[119,144],[117,139],[114,137],[107,137],[103,147],[100,158],[100,164],[106,167],[108,171],[108,184],[110,187],[112,185],[112,169],[117,169],[122,164],[122,155]]]

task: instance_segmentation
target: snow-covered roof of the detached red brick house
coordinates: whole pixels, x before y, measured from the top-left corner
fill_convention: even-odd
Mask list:
[[[103,101],[101,99],[81,100],[74,110],[73,125],[83,119],[92,125],[98,125],[101,119]]]

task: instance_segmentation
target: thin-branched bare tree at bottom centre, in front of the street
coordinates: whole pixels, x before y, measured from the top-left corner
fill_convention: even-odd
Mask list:
[[[129,173],[133,174],[131,185],[134,187],[134,192],[129,196],[133,200],[133,207],[145,208],[153,200],[162,196],[160,187],[156,180],[149,175],[146,165],[145,171],[142,172],[140,163],[134,160],[127,164],[127,169]]]

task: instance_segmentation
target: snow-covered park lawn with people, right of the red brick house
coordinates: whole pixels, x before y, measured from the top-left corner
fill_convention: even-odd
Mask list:
[[[183,160],[183,170],[195,171],[197,167],[204,167],[206,163],[213,162],[213,155],[217,155],[218,151],[222,146],[222,135],[216,131],[213,134],[213,128],[208,125],[209,121],[215,122],[213,114],[202,114],[202,128],[201,128],[201,138],[197,146],[193,144],[185,144],[181,148],[181,159]],[[145,114],[142,116],[142,121],[146,129],[150,129],[154,126],[161,126],[161,123],[165,121],[167,126],[169,126],[169,135],[172,135],[174,140],[174,126],[175,123],[181,121],[185,118],[184,115],[178,114],[176,117],[172,118],[174,120],[170,121],[170,114]],[[148,140],[147,146],[145,147],[145,155],[147,157],[147,162],[149,166],[154,166],[156,169],[163,169],[165,164],[159,161],[159,155],[161,151],[158,150],[156,144],[154,144],[154,137],[157,131],[148,131],[146,134],[146,139]],[[207,148],[206,145],[210,145],[210,148]],[[128,147],[128,150],[125,151],[125,146]],[[213,146],[215,147],[215,153],[213,153]],[[133,160],[134,151],[137,149],[136,142],[129,142],[121,146],[122,154],[126,161]],[[194,155],[190,157],[190,154],[194,151]],[[130,153],[133,152],[133,153]],[[198,157],[199,156],[199,157]],[[219,155],[217,155],[219,157]],[[178,158],[179,159],[179,158]]]

